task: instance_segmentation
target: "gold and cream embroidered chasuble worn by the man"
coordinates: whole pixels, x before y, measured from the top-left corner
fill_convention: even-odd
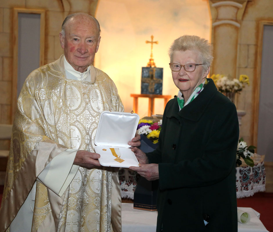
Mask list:
[[[58,155],[65,160],[70,151],[94,152],[100,113],[124,110],[115,84],[101,70],[90,67],[91,82],[66,79],[65,73],[62,55],[30,73],[23,85],[12,130],[0,232],[10,231],[34,184],[31,231],[121,231],[117,169],[77,167],[74,177],[68,175],[72,181],[61,196],[36,180]]]

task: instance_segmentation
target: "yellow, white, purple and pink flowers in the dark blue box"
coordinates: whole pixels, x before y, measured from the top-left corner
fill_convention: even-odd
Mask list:
[[[162,119],[159,122],[153,122],[152,120],[141,119],[138,122],[137,133],[144,135],[153,144],[158,143],[158,136],[161,131]]]

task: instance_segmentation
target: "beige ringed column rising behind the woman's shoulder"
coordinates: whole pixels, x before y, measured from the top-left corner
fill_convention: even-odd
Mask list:
[[[224,74],[236,78],[238,32],[245,6],[249,0],[209,0],[214,46],[212,74]]]

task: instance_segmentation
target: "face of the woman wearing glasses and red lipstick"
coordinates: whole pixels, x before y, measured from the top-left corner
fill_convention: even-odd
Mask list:
[[[173,52],[171,63],[180,65],[202,64],[199,54],[197,50],[175,51]],[[193,72],[185,71],[184,67],[181,67],[178,72],[171,71],[173,82],[182,91],[186,101],[195,88],[204,81],[208,73],[209,68],[208,70],[204,70],[203,65],[197,65]]]

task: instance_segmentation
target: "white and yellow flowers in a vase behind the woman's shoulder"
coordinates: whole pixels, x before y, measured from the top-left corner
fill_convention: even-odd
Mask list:
[[[249,77],[247,75],[240,75],[239,80],[229,79],[225,75],[213,74],[211,79],[214,81],[218,91],[226,95],[232,102],[234,102],[235,93],[240,93],[245,84],[249,85]]]

